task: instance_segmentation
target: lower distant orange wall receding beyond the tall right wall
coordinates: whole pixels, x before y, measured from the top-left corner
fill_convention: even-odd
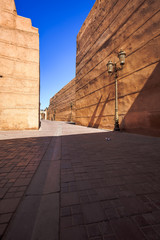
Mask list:
[[[75,78],[50,99],[47,118],[56,121],[75,121]]]

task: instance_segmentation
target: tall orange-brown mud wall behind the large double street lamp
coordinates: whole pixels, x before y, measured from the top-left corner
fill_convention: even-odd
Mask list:
[[[97,0],[77,36],[76,123],[113,129],[114,76],[109,60],[126,54],[119,72],[120,128],[160,135],[160,2]]]

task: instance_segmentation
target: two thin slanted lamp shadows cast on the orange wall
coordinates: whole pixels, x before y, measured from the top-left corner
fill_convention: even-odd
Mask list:
[[[97,120],[96,120],[96,122],[94,123],[94,120],[95,120],[95,118],[96,118],[96,113],[97,113],[97,111],[98,111],[98,108],[99,108],[99,105],[100,105],[101,99],[102,99],[102,96],[100,97],[100,99],[99,99],[99,101],[98,101],[98,104],[97,104],[97,106],[96,106],[96,108],[95,108],[95,110],[94,110],[94,113],[93,113],[93,115],[92,115],[92,117],[91,117],[91,120],[90,120],[90,122],[89,122],[89,124],[88,124],[88,127],[93,127],[93,128],[98,128],[98,127],[99,127],[100,122],[101,122],[101,119],[102,119],[102,117],[103,117],[103,113],[104,113],[105,106],[106,106],[106,104],[107,104],[107,102],[108,102],[108,99],[109,99],[109,96],[110,96],[110,93],[109,93],[108,97],[106,98],[104,104],[102,105],[102,109],[101,109],[101,111],[100,111],[100,114],[98,115]]]

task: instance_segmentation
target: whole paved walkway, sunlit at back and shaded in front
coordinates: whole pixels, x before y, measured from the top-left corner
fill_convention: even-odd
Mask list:
[[[160,239],[160,138],[43,121],[0,139],[3,240]]]

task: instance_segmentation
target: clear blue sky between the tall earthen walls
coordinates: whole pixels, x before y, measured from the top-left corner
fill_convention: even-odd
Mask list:
[[[76,36],[95,0],[15,0],[17,13],[39,28],[41,109],[75,77]]]

